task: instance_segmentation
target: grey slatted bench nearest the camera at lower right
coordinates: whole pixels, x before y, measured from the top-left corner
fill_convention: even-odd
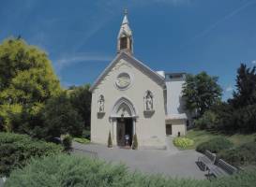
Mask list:
[[[233,175],[233,173],[237,172],[238,169],[233,165],[230,165],[223,161],[222,159],[218,160],[217,165],[209,167],[209,175],[213,175],[216,178],[222,176]]]

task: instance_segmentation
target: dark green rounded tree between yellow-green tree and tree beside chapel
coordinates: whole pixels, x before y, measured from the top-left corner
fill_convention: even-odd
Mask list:
[[[73,108],[65,91],[49,99],[43,110],[43,119],[47,139],[67,133],[72,136],[82,136],[83,118],[76,108]]]

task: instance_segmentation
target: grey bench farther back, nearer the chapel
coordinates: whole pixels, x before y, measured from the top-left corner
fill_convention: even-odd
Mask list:
[[[205,151],[203,156],[198,157],[198,164],[203,168],[203,171],[213,166],[216,161],[216,154],[211,151]]]

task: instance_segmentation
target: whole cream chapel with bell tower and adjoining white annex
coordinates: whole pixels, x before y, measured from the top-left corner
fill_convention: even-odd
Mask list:
[[[186,134],[189,123],[181,96],[185,73],[154,71],[133,55],[133,36],[125,13],[117,54],[90,88],[91,141],[139,149],[166,148],[167,136]]]

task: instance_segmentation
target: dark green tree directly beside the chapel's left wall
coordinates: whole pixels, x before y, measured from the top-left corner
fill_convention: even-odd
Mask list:
[[[69,88],[70,102],[73,108],[76,108],[78,113],[83,118],[84,127],[90,127],[91,122],[91,100],[92,94],[89,92],[90,85]]]

